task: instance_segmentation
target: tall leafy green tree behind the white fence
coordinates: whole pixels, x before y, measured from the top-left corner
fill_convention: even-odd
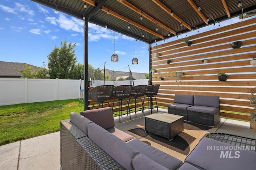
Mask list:
[[[61,47],[57,47],[51,51],[48,57],[48,68],[50,78],[74,79],[74,68],[76,66],[76,43],[72,45],[70,42],[61,41]]]

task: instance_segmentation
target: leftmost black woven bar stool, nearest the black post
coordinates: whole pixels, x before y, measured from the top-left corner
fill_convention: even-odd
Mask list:
[[[113,85],[103,85],[96,86],[88,90],[89,99],[94,100],[94,104],[98,103],[99,108],[100,104],[108,103],[107,100],[111,100],[114,86]],[[94,104],[92,105],[92,109],[94,108]],[[110,107],[109,103],[108,106]]]

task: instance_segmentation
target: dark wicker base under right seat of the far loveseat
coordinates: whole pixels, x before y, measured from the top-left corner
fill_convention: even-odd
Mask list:
[[[209,114],[188,110],[188,121],[214,127],[220,122],[220,111],[214,114]]]

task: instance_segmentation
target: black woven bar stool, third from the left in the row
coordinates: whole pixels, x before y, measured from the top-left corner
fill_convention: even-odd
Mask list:
[[[143,115],[144,115],[144,107],[143,107],[143,102],[142,102],[142,99],[140,97],[144,96],[144,92],[146,90],[146,87],[147,85],[138,85],[138,86],[133,86],[132,87],[132,91],[131,91],[131,97],[129,99],[129,104],[128,104],[128,107],[130,108],[130,100],[131,99],[134,99],[135,102],[134,102],[134,108],[135,108],[135,117],[137,118],[137,108],[139,109],[138,111],[141,111],[143,112]],[[137,107],[137,103],[136,103],[136,100],[137,99],[140,99],[141,100],[141,103],[142,103],[142,107]]]

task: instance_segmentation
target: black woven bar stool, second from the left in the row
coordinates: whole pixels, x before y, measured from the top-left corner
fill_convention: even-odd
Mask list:
[[[131,90],[132,90],[132,85],[121,85],[121,86],[114,87],[113,98],[115,98],[115,100],[113,102],[112,111],[113,111],[115,102],[119,101],[119,123],[121,122],[121,116],[123,116],[123,111],[125,111],[127,113],[127,115],[129,113],[130,119],[131,119],[131,113],[130,113],[130,109],[129,109],[129,105],[128,105],[128,100],[126,100],[126,98],[130,97]],[[122,104],[123,101],[127,102],[127,109],[124,109],[124,110],[123,110],[123,104]],[[113,114],[118,115],[114,112],[113,112]]]

